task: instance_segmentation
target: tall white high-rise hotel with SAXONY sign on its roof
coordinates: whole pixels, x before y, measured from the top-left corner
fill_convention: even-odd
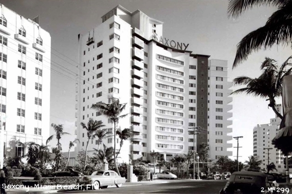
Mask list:
[[[102,16],[102,23],[78,35],[78,77],[76,81],[76,131],[80,144],[75,154],[85,150],[86,130],[80,123],[90,118],[113,130],[110,119],[91,109],[97,102],[110,103],[115,97],[127,103],[127,117],[119,121],[134,136],[127,141],[118,162],[151,160],[150,151],[165,160],[175,154],[210,146],[210,158],[231,156],[228,141],[232,125],[232,83],[227,61],[193,54],[189,44],[163,37],[163,22],[137,10],[118,5]],[[194,136],[189,128],[205,132]],[[120,140],[104,140],[107,147]],[[193,146],[195,141],[195,147]],[[91,155],[97,140],[89,144]]]

